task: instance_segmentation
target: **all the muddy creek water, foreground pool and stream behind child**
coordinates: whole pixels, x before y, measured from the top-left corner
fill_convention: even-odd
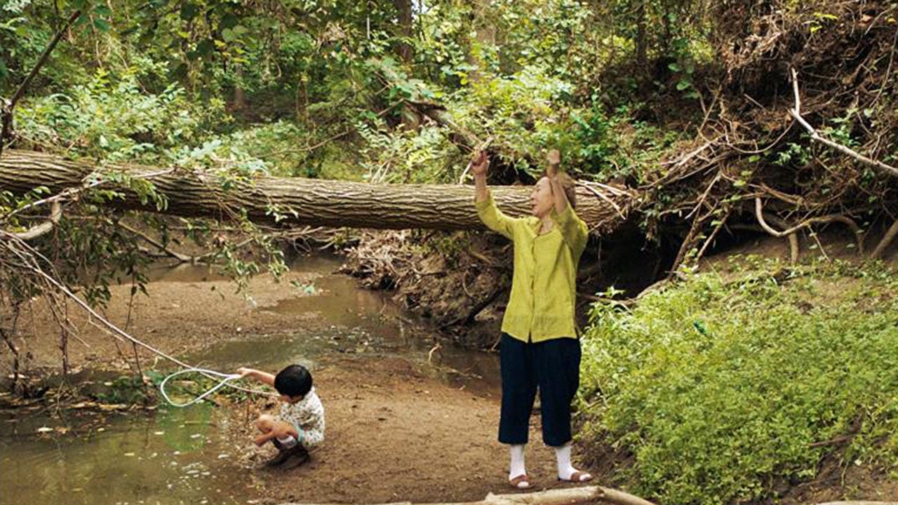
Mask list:
[[[359,289],[354,279],[332,273],[335,258],[305,258],[294,270],[318,274],[300,286],[301,297],[267,310],[314,314],[287,336],[242,334],[214,349],[182,357],[207,368],[232,370],[252,357],[257,368],[290,362],[316,368],[330,356],[393,355],[429,367],[453,387],[495,391],[497,359],[480,352],[443,349],[381,293]],[[202,266],[157,269],[152,282],[221,279]],[[151,293],[163,292],[153,286]],[[291,355],[284,350],[290,349]],[[102,380],[102,379],[101,379]],[[241,414],[198,404],[147,414],[50,412],[0,419],[0,504],[218,504],[253,503],[257,482],[243,469],[245,440],[225,437],[227,424],[249,423]],[[58,413],[58,412],[57,412]],[[66,432],[60,432],[64,430]]]

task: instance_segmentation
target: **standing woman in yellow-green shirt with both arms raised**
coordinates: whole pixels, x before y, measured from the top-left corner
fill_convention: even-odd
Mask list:
[[[555,447],[558,477],[582,483],[570,459],[570,403],[580,384],[580,341],[574,323],[577,262],[586,245],[586,225],[574,208],[574,182],[558,173],[559,152],[530,195],[531,217],[507,217],[487,188],[489,159],[479,152],[471,161],[480,220],[515,244],[515,272],[502,319],[502,411],[499,442],[508,444],[508,482],[531,487],[524,468],[530,412],[540,390],[542,440]]]

